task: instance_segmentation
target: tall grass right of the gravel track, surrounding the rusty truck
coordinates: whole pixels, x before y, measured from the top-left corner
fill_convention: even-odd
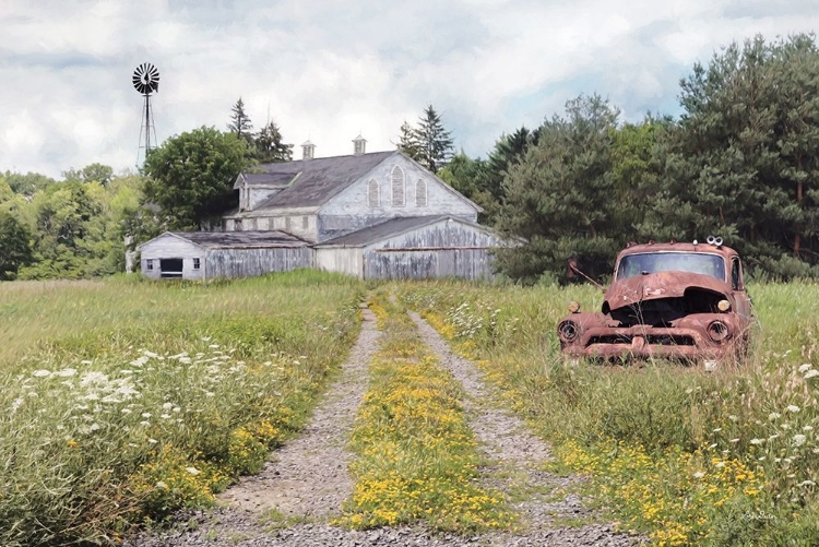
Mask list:
[[[598,476],[624,526],[665,545],[819,544],[819,286],[752,286],[751,355],[716,373],[662,361],[568,366],[555,326],[570,300],[598,308],[587,286],[403,292],[567,465]]]

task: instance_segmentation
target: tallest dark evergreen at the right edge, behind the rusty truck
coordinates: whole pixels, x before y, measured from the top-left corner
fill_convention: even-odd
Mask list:
[[[759,270],[819,274],[819,52],[812,36],[732,44],[681,82],[665,188],[645,228],[722,236]]]

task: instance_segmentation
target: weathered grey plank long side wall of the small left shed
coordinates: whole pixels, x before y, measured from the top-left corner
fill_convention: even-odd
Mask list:
[[[313,249],[211,249],[206,254],[207,278],[252,277],[270,272],[313,267]]]

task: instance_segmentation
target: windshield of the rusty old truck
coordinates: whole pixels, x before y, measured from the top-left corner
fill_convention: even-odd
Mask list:
[[[700,252],[646,252],[627,254],[617,266],[617,278],[656,272],[699,273],[725,281],[725,262],[717,254]]]

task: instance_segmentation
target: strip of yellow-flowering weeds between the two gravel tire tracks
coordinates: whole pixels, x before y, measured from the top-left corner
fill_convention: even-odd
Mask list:
[[[475,479],[479,457],[460,387],[406,313],[373,302],[385,330],[370,389],[356,418],[351,471],[356,484],[340,523],[367,528],[423,521],[436,530],[509,527],[502,495]]]

